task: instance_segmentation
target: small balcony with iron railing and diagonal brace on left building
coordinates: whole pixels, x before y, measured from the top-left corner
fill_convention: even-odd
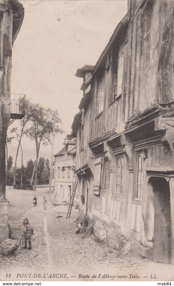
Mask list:
[[[25,94],[11,93],[11,121],[22,119],[25,116]],[[8,126],[9,126],[8,125]]]

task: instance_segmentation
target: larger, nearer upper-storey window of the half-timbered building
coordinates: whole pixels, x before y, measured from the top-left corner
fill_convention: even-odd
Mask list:
[[[122,94],[122,82],[123,82],[123,65],[124,65],[124,45],[121,44],[119,52],[114,57],[113,63],[113,88],[110,96],[110,102],[112,103],[116,98]]]

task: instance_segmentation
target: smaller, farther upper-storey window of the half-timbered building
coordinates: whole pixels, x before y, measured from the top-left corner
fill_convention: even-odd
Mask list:
[[[105,73],[97,79],[97,115],[103,111]]]

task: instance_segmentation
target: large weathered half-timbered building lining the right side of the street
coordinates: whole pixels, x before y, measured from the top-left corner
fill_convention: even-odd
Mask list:
[[[95,67],[76,74],[79,221],[110,247],[174,263],[174,2],[128,4]]]

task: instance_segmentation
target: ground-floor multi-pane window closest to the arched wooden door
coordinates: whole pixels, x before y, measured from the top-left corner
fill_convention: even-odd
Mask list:
[[[136,174],[136,190],[135,190],[135,200],[142,200],[142,189],[143,189],[143,163],[144,158],[137,154],[137,174]]]

